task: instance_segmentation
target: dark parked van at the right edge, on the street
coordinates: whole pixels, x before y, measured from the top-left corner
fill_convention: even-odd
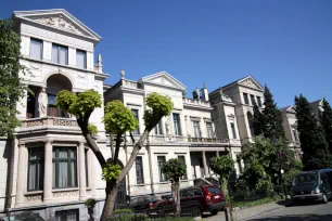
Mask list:
[[[312,199],[328,204],[331,198],[332,169],[306,171],[297,174],[291,187],[291,199]]]

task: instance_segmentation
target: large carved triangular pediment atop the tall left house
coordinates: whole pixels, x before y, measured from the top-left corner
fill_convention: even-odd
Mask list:
[[[93,30],[63,9],[16,11],[14,12],[13,16],[20,20],[26,20],[39,25],[55,28],[58,30],[84,36],[95,41],[100,41],[101,39],[101,37]]]

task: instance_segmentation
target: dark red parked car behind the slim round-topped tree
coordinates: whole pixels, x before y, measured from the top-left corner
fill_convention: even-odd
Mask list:
[[[226,198],[218,186],[202,185],[200,187],[188,187],[180,190],[181,210],[188,210],[186,207],[192,207],[194,213],[202,216],[204,211],[212,214],[218,213],[225,209]],[[175,202],[173,198],[157,202],[153,205],[158,214],[165,214],[175,210]]]

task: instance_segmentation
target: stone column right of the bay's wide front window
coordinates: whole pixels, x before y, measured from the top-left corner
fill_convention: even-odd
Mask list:
[[[86,182],[86,160],[85,160],[85,143],[79,142],[78,145],[79,160],[79,200],[87,198],[87,182]]]

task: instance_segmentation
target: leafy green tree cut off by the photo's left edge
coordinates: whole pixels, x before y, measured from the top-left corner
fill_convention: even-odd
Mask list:
[[[0,136],[12,136],[20,126],[16,103],[23,98],[25,86],[18,77],[24,73],[20,64],[21,38],[10,20],[0,20]]]

